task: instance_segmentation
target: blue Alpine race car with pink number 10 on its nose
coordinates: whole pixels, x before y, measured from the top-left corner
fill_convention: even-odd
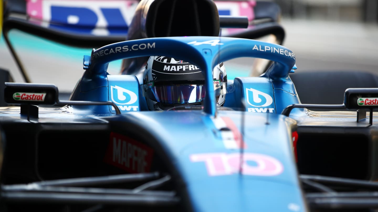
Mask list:
[[[295,74],[296,55],[278,44],[243,38],[280,35],[282,28],[269,22],[233,37],[218,36],[220,26],[245,20],[230,19],[219,17],[210,0],[143,0],[127,41],[84,56],[85,72],[70,100],[60,100],[53,84],[6,82],[6,103],[19,106],[3,107],[0,113],[2,209],[378,208],[378,132],[373,120],[378,90],[347,89],[343,104],[301,104],[289,76]],[[179,25],[176,20],[185,28],[172,28]],[[84,45],[83,38],[88,38],[67,40],[68,33],[11,16],[4,21],[5,34],[9,28],[65,38],[60,41],[71,44]],[[156,55],[180,60],[151,68],[150,61],[163,61]],[[271,62],[260,77],[226,81],[222,75],[214,80],[214,67],[220,70],[224,61],[240,57]],[[108,63],[115,60],[123,60],[122,75],[107,73]],[[174,77],[202,78],[183,86],[172,76],[174,84],[137,76],[149,69],[155,76],[161,70]],[[194,91],[196,104],[186,104],[193,97],[186,95],[187,88]],[[222,95],[223,106],[218,106]],[[152,110],[151,99],[175,105]]]

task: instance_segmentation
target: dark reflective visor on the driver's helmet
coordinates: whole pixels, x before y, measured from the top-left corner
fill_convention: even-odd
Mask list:
[[[206,89],[203,84],[174,84],[153,86],[154,98],[166,104],[184,104],[200,102],[205,98]]]

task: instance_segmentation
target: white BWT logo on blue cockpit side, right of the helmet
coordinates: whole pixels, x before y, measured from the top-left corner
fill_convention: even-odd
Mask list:
[[[247,103],[255,108],[248,108],[248,112],[270,112],[273,113],[274,108],[263,108],[270,106],[273,103],[273,98],[269,94],[257,91],[253,88],[246,88]],[[258,107],[258,108],[256,108]]]

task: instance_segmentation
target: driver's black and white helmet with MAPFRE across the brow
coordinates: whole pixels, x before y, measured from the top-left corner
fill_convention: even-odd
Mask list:
[[[227,75],[223,63],[213,69],[217,106],[226,99]],[[206,93],[201,70],[171,57],[151,56],[143,76],[144,96],[150,110],[201,105]]]

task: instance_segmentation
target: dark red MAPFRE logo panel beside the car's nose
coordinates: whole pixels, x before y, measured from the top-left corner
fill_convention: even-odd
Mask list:
[[[110,133],[105,162],[130,173],[149,172],[153,150],[132,138]]]

